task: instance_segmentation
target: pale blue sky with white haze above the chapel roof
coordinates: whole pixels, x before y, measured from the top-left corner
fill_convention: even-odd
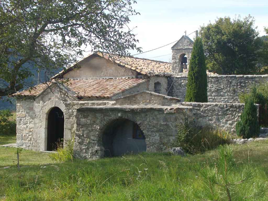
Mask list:
[[[263,27],[268,27],[268,1],[149,1],[137,0],[133,5],[140,16],[131,17],[130,27],[139,39],[138,46],[143,51],[151,50],[180,39],[187,31],[187,35],[198,30],[200,25],[214,22],[217,17],[240,15],[242,18],[250,14],[255,18],[255,26],[260,35],[265,35]],[[193,39],[195,34],[189,35]],[[140,58],[151,58],[171,54],[173,44],[155,51],[137,55]],[[136,54],[135,51],[131,51]],[[170,61],[171,55],[152,58]]]

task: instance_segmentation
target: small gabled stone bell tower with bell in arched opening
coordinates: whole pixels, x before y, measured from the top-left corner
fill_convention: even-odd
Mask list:
[[[193,41],[188,36],[182,36],[172,47],[172,74],[183,73],[190,63]]]

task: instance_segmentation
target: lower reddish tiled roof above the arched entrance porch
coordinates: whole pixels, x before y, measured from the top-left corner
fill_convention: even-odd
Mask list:
[[[81,97],[110,98],[148,81],[142,78],[102,78],[102,79],[69,79],[65,86]],[[32,90],[24,90],[14,96],[36,97],[53,82],[40,84]]]

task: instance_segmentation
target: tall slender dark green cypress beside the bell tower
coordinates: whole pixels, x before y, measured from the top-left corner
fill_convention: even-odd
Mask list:
[[[206,63],[203,44],[199,37],[197,37],[193,43],[185,101],[207,102]]]

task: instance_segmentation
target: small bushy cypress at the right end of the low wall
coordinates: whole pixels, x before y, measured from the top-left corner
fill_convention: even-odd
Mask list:
[[[236,134],[243,138],[258,137],[260,126],[257,117],[257,108],[253,97],[245,101],[244,111],[241,113],[240,121],[236,123]]]

